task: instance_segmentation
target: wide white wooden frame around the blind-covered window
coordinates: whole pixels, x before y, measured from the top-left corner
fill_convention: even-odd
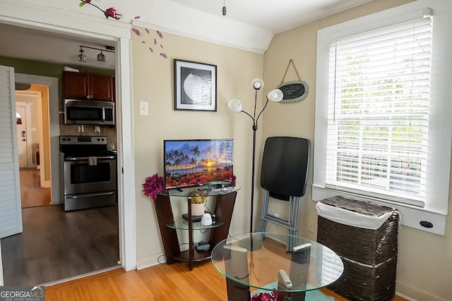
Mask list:
[[[429,123],[429,154],[427,157],[429,176],[434,180],[427,187],[424,207],[401,204],[389,199],[359,195],[355,192],[345,192],[335,188],[327,188],[326,179],[326,130],[328,110],[328,42],[341,39],[361,32],[367,32],[380,27],[413,20],[423,15],[425,8],[432,8],[434,15],[434,30],[432,44],[432,92]],[[420,0],[396,8],[381,11],[369,16],[350,20],[319,30],[317,35],[317,74],[316,74],[316,120],[314,143],[314,183],[312,199],[321,200],[326,197],[342,195],[351,199],[360,199],[378,204],[396,207],[402,216],[405,226],[417,228],[444,235],[446,216],[448,214],[449,185],[451,173],[451,143],[452,143],[452,105],[448,102],[448,90],[452,76],[448,74],[451,63],[447,61],[447,49],[452,42],[447,41],[447,28],[452,27],[452,5],[447,1]],[[325,58],[324,60],[322,58]],[[447,63],[444,63],[447,62]],[[448,83],[449,82],[449,83]],[[446,166],[446,168],[444,168]],[[421,226],[421,221],[429,221],[432,228]]]

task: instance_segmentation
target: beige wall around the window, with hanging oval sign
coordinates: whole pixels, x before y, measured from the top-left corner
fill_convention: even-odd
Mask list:
[[[302,102],[278,104],[268,110],[263,137],[293,135],[314,141],[314,110],[316,89],[316,32],[337,23],[366,16],[410,0],[375,0],[343,13],[275,35],[264,56],[264,80],[280,81],[290,59],[295,61],[302,80],[309,84],[309,94]],[[293,68],[285,80],[297,80]],[[270,87],[268,87],[270,89]],[[312,164],[311,164],[312,167]],[[311,168],[312,171],[312,168]],[[306,231],[309,221],[316,222],[315,203],[311,202],[312,173],[300,214],[300,235],[315,239],[316,233]],[[449,199],[449,211],[452,201]],[[446,235],[434,235],[413,228],[399,228],[399,249],[396,291],[415,300],[452,300],[452,220],[448,216]]]

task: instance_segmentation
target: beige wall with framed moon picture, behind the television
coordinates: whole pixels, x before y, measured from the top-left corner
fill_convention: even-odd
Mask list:
[[[132,38],[133,118],[136,159],[136,226],[138,268],[155,264],[162,254],[160,232],[153,200],[142,193],[147,176],[163,173],[163,140],[165,139],[234,139],[234,174],[244,188],[237,194],[231,233],[243,233],[249,225],[249,196],[251,185],[251,119],[234,113],[227,107],[232,98],[242,100],[249,111],[254,103],[251,81],[263,76],[263,55],[253,54],[196,39],[170,35],[163,39],[148,34]],[[154,38],[159,44],[154,46]],[[145,42],[142,43],[142,42]],[[152,53],[148,47],[154,48]],[[165,52],[168,59],[160,56]],[[174,111],[173,59],[210,63],[217,66],[218,109],[207,111]],[[276,82],[270,83],[276,85]],[[261,96],[261,94],[260,94]],[[149,116],[140,116],[139,102],[149,103]],[[246,189],[245,189],[246,188]]]

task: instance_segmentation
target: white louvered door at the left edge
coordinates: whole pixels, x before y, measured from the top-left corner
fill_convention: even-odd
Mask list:
[[[14,68],[0,66],[0,238],[22,232],[14,91]]]

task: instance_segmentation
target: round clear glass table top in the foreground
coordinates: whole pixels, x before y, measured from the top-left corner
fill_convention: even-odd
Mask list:
[[[211,260],[221,274],[251,288],[302,292],[330,285],[343,274],[338,254],[313,240],[251,233],[222,240]]]

